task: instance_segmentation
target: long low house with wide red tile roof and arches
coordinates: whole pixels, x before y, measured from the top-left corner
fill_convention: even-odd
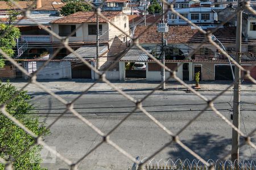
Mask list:
[[[207,31],[207,30],[206,30]],[[231,57],[235,57],[234,49],[236,46],[236,27],[223,27],[217,29],[213,35],[224,46]],[[195,73],[200,71],[200,80],[232,80],[232,72],[229,61],[212,44],[209,43],[203,33],[191,26],[170,26],[165,33],[167,45],[164,47],[166,54],[166,66],[171,70],[177,71],[177,76],[182,80],[192,81]],[[134,38],[138,39],[139,44],[146,50],[151,50],[151,54],[160,60],[162,53],[162,33],[157,31],[156,26],[147,27],[138,25],[134,31]],[[201,48],[196,50],[192,57],[187,58],[188,53],[193,52],[199,45]],[[218,44],[219,42],[216,41]],[[220,44],[219,44],[220,45]],[[242,66],[251,69],[251,76],[256,78],[256,59],[248,53],[248,45],[245,37],[242,40]],[[143,61],[137,54],[126,56],[121,59],[119,70],[125,70],[125,63],[145,62],[147,80],[160,80],[161,67],[150,57]],[[142,56],[147,56],[146,54]],[[128,58],[128,59],[127,59]],[[180,67],[177,67],[181,65]],[[234,67],[234,66],[233,66]],[[233,69],[234,70],[234,69]],[[127,71],[121,71],[121,78],[126,78]],[[166,78],[170,73],[166,73]]]

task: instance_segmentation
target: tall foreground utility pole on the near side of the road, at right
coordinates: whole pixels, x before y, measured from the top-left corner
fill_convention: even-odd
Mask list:
[[[238,8],[240,10],[241,0],[238,0]],[[240,6],[240,7],[239,7]],[[236,35],[236,62],[241,65],[241,45],[242,45],[242,11],[237,11],[237,35]],[[241,69],[235,66],[234,80],[234,100],[233,100],[233,125],[240,129],[240,90],[241,90]],[[239,138],[240,135],[232,129],[232,162],[239,160]],[[237,167],[237,163],[235,164]]]

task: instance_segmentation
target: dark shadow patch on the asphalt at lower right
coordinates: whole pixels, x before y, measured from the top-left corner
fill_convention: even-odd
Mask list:
[[[212,133],[195,134],[190,140],[181,140],[185,146],[189,147],[196,154],[201,156],[204,160],[217,160],[221,159],[222,156],[230,152],[228,145],[231,144],[232,139],[222,137],[220,135]],[[185,151],[184,148],[175,144],[171,145],[171,151],[169,152],[170,158],[177,160],[193,160],[196,159],[189,152]]]

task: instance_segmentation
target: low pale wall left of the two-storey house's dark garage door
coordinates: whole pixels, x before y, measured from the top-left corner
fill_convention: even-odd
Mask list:
[[[29,72],[34,72],[38,70],[45,61],[36,61],[36,67],[33,65],[33,70],[30,66],[34,62],[24,62],[24,69]],[[69,61],[54,61],[49,62],[42,70],[36,74],[37,79],[71,79],[71,62]],[[27,76],[24,76],[24,79],[28,79]]]

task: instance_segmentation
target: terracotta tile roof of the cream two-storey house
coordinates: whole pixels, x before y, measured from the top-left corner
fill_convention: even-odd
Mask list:
[[[113,19],[119,15],[121,11],[102,11],[101,14],[106,18]],[[98,17],[100,23],[106,23],[106,20]],[[93,11],[90,12],[76,12],[68,16],[64,16],[61,19],[55,20],[52,23],[96,23],[96,14]]]

